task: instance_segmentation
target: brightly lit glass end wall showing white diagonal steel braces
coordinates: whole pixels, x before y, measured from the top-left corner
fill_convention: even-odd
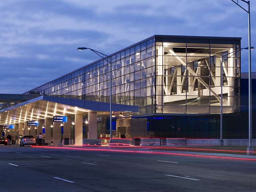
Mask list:
[[[221,63],[223,113],[237,112],[240,41],[157,38],[156,112],[220,113]]]

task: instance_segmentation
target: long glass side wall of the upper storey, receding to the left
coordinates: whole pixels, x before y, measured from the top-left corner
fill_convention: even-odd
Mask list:
[[[25,94],[109,102],[110,62],[112,103],[137,105],[136,114],[155,112],[155,38],[98,60]]]

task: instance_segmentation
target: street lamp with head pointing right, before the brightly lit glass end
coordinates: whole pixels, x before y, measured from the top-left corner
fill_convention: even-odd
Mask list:
[[[245,48],[240,48],[237,49],[233,52],[230,52],[228,54],[225,55],[221,55],[221,65],[220,65],[220,70],[221,70],[221,79],[220,79],[220,84],[221,84],[221,92],[220,92],[220,97],[221,97],[221,101],[220,101],[220,145],[224,145],[224,141],[223,141],[223,93],[222,93],[222,89],[223,89],[223,62],[225,62],[226,60],[228,60],[230,57],[232,57],[234,54],[236,54],[238,51],[241,51],[242,49],[249,49],[249,47],[245,47]],[[254,47],[251,47],[250,50],[253,50]],[[232,54],[233,53],[233,54]],[[229,56],[229,54],[232,54]],[[223,56],[227,56],[227,58],[225,58],[225,60],[223,60]]]

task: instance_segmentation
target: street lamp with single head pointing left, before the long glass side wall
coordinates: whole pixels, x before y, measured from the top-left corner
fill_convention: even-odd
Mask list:
[[[112,142],[112,74],[111,74],[111,69],[112,69],[112,66],[111,66],[111,57],[110,56],[107,56],[99,51],[96,51],[94,49],[91,49],[91,48],[87,48],[87,47],[78,47],[77,50],[78,51],[82,51],[82,50],[85,50],[85,49],[89,49],[91,50],[92,52],[96,53],[97,55],[99,55],[102,59],[104,59],[105,61],[107,61],[107,63],[109,63],[109,80],[110,80],[110,96],[109,96],[109,117],[110,117],[110,125],[109,125],[109,129],[110,129],[110,143]],[[101,56],[101,55],[102,56]],[[105,57],[104,57],[105,56]],[[106,58],[110,58],[110,61],[108,61]]]

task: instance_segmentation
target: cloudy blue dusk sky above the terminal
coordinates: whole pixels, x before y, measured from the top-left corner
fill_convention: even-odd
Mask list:
[[[158,34],[242,37],[248,47],[247,13],[230,0],[8,0],[0,18],[0,93],[24,93],[99,59],[81,46],[111,54]],[[255,18],[252,0],[254,47]]]

